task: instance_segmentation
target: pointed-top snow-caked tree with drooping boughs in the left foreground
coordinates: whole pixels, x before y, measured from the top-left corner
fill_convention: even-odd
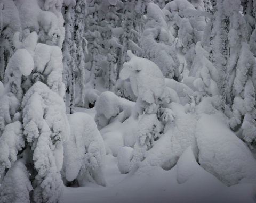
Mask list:
[[[33,202],[59,202],[63,182],[63,141],[69,136],[69,124],[63,99],[46,84],[36,82],[22,100],[22,122],[26,138],[28,171],[33,185]]]

